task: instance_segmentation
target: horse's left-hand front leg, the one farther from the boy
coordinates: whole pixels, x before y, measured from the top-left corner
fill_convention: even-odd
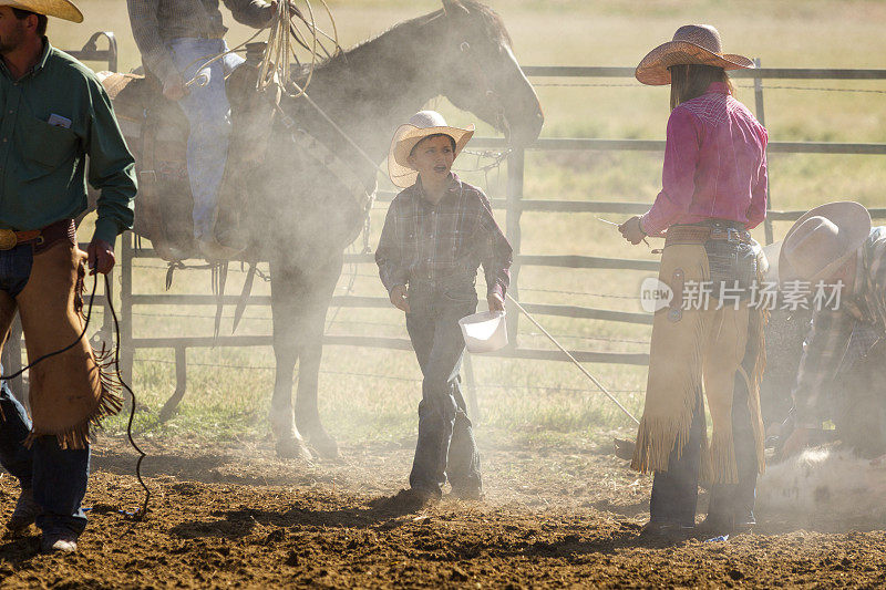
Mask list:
[[[298,359],[298,306],[301,294],[298,271],[280,260],[270,261],[274,355],[277,361],[270,428],[280,458],[310,459],[311,454],[296,429],[292,411],[292,372]]]

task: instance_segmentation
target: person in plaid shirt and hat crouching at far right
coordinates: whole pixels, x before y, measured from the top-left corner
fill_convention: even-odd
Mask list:
[[[839,293],[812,306],[781,455],[820,443],[827,420],[861,455],[886,453],[886,227],[872,228],[858,203],[815,207],[787,231],[779,277],[783,290]]]

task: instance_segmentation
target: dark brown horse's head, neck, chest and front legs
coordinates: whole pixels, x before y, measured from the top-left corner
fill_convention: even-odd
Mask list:
[[[308,93],[373,163],[305,99],[284,96],[282,111],[368,186],[394,128],[435,96],[494,125],[512,145],[534,141],[544,122],[501,18],[474,0],[443,0],[442,10],[332,58],[313,73]],[[236,128],[238,104],[231,104]],[[270,422],[280,456],[303,456],[299,433],[321,455],[334,456],[336,441],[317,404],[323,327],[343,251],[364,211],[328,167],[306,157],[281,122],[286,117],[278,113],[266,161],[240,167],[237,179],[246,188],[238,198],[247,203],[241,209],[246,235],[257,247],[253,258],[270,262],[277,362]]]

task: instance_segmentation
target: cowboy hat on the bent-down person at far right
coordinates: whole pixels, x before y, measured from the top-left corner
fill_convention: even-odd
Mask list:
[[[779,277],[826,279],[865,242],[870,214],[858,203],[828,203],[807,211],[787,231],[779,256]]]

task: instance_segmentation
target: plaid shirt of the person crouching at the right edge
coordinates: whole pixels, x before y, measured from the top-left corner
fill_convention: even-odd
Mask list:
[[[838,310],[815,311],[803,343],[793,391],[800,426],[821,426],[828,406],[825,389],[886,335],[886,227],[870,230],[858,249],[851,298]]]

